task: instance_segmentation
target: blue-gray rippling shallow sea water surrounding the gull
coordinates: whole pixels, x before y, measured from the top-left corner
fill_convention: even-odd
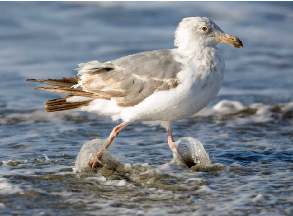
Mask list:
[[[0,2],[1,215],[292,215],[291,2]],[[244,49],[219,45],[222,89],[174,122],[210,166],[170,163],[167,133],[141,123],[115,138],[119,158],[74,172],[83,143],[118,123],[92,113],[45,113],[59,94],[25,79],[75,75],[78,63],[173,48],[183,17],[209,17]]]

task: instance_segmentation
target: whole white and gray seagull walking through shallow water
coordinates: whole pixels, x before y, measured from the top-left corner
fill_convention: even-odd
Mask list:
[[[77,76],[26,81],[53,85],[36,90],[69,94],[46,101],[47,112],[74,109],[123,121],[95,153],[97,160],[88,161],[92,169],[114,137],[133,122],[165,128],[171,150],[187,165],[173,140],[172,122],[199,112],[218,94],[225,73],[223,55],[216,47],[220,43],[243,49],[238,38],[210,19],[188,17],[175,31],[175,49],[141,52],[106,63],[90,61],[79,64]]]

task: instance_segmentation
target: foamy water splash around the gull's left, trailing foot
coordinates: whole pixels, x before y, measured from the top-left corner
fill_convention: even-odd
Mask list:
[[[94,139],[89,142],[86,142],[81,147],[78,156],[75,161],[75,170],[77,171],[86,171],[91,170],[91,168],[88,166],[88,161],[90,158],[94,157],[97,160],[97,157],[94,155],[94,153],[99,152],[101,149],[103,149],[107,144],[106,140],[101,139]],[[105,164],[107,158],[113,158],[115,157],[113,154],[111,154],[110,150],[114,147],[114,141],[112,141],[111,145],[107,149],[107,151],[103,154],[101,161],[102,164]],[[115,158],[116,159],[116,158]],[[116,159],[117,160],[117,159]]]

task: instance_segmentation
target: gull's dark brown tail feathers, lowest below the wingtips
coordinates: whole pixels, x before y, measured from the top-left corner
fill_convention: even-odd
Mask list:
[[[44,104],[46,105],[45,111],[47,112],[56,112],[69,109],[75,109],[80,106],[87,106],[92,100],[82,101],[82,102],[67,102],[66,99],[73,97],[73,95],[65,96],[64,98],[58,98],[54,100],[48,100]]]

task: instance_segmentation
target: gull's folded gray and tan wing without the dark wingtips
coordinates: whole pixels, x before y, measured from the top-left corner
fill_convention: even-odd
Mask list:
[[[81,65],[78,85],[85,91],[114,99],[118,106],[134,106],[157,91],[176,88],[183,65],[172,50],[154,50],[112,60]]]

